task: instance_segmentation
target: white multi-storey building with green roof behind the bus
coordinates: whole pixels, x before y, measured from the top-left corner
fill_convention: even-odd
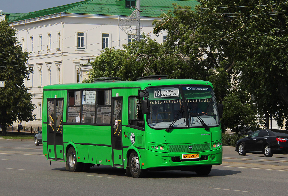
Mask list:
[[[197,1],[141,0],[141,32],[153,31],[153,20],[161,9],[174,9],[172,3],[194,7]],[[132,13],[129,7],[134,5],[136,0],[86,0],[26,14],[0,12],[0,19],[11,22],[22,49],[29,52],[28,65],[34,70],[25,86],[33,95],[38,120],[26,125],[42,124],[43,86],[82,82],[104,48],[122,48],[131,41],[120,20]],[[166,35],[151,38],[162,43]]]

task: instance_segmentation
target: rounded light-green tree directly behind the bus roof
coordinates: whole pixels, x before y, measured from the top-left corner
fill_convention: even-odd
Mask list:
[[[102,51],[93,62],[93,70],[86,81],[92,82],[98,77],[121,77],[127,81],[147,75],[168,75],[168,78],[190,78],[193,75],[179,53],[168,51],[145,34],[142,37],[139,43],[133,41],[124,45],[124,50],[106,48]]]

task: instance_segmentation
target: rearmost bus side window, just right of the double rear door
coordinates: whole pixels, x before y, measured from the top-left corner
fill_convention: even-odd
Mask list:
[[[81,96],[80,91],[69,92],[69,105],[68,105],[68,122],[75,123],[76,118],[80,113],[80,102]]]

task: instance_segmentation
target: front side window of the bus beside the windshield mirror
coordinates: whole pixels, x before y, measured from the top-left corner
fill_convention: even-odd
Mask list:
[[[129,98],[129,124],[144,127],[141,100],[136,97]]]

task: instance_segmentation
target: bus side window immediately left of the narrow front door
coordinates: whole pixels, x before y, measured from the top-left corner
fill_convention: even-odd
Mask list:
[[[99,90],[97,96],[97,123],[111,122],[111,90]]]

